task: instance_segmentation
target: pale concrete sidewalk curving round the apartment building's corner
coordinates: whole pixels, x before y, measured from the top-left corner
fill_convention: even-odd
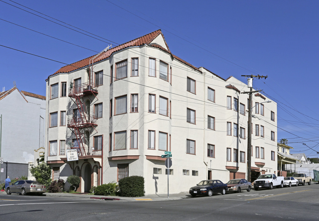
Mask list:
[[[6,192],[1,192],[0,194],[6,194]],[[13,193],[14,194],[14,193]],[[14,194],[16,195],[16,194]],[[141,197],[123,197],[123,196],[96,196],[89,195],[86,193],[44,193],[45,196],[53,197],[70,197],[70,198],[81,198],[85,200],[96,199],[96,200],[120,200],[120,201],[163,201],[163,200],[177,200],[190,198],[189,192],[181,192],[176,194],[169,194],[167,198],[166,194],[150,194]]]

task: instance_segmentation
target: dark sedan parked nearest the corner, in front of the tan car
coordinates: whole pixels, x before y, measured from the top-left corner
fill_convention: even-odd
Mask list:
[[[221,193],[224,195],[228,190],[227,184],[220,180],[203,180],[196,186],[189,189],[191,196],[207,195],[212,196],[213,193]]]

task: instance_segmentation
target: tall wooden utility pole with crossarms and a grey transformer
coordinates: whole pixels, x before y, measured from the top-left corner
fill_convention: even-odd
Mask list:
[[[253,77],[258,77],[258,79],[260,78],[267,78],[267,76],[254,76],[254,75],[241,75],[242,77],[249,77],[248,78],[248,87],[250,88],[250,91],[248,92],[243,92],[242,94],[249,94],[249,102],[248,102],[248,142],[247,142],[247,181],[251,182],[251,132],[252,132],[252,128],[251,128],[251,112],[252,112],[252,107],[251,107],[251,103],[252,103],[252,94],[255,92],[259,92],[261,90],[254,90],[253,91]]]

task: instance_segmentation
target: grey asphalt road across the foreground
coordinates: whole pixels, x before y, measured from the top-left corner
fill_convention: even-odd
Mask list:
[[[188,196],[188,195],[187,195]],[[0,195],[0,220],[318,220],[319,184],[165,201]]]

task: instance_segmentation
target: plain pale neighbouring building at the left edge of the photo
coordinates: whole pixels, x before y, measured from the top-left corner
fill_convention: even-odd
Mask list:
[[[1,182],[28,176],[28,165],[34,161],[34,149],[44,147],[45,96],[13,88],[0,93],[2,114]]]

